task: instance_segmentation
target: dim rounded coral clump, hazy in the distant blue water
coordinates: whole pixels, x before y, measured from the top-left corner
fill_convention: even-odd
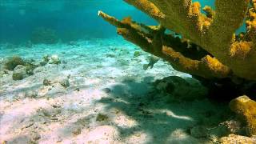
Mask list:
[[[34,44],[54,44],[58,42],[58,36],[52,29],[39,27],[32,32],[30,40]]]

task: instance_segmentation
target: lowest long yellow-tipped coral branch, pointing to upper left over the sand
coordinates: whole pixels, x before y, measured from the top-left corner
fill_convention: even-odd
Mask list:
[[[194,60],[187,58],[181,52],[174,50],[178,49],[178,47],[173,49],[170,46],[166,46],[166,44],[170,44],[170,42],[166,42],[166,40],[170,40],[171,36],[164,34],[165,29],[162,26],[142,25],[142,27],[140,27],[136,22],[132,22],[130,18],[118,21],[103,12],[100,12],[99,15],[107,22],[117,26],[118,34],[122,35],[127,41],[140,46],[142,50],[145,50],[146,52],[166,59],[176,70],[195,74],[204,78],[226,78],[230,75],[230,69],[222,65],[222,63],[218,62],[215,58],[206,56],[201,60]],[[147,29],[146,31],[149,31],[150,33],[141,30],[142,28]],[[175,45],[182,46],[180,39],[175,42]],[[180,44],[178,45],[178,43]]]

